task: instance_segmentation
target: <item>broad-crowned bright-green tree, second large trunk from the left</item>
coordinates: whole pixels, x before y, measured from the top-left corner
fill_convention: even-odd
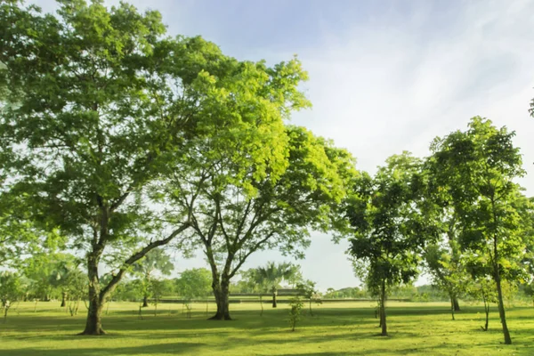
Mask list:
[[[272,80],[278,80],[281,70],[301,77],[295,66],[277,68]],[[263,118],[255,120],[266,125]],[[248,256],[276,248],[302,257],[310,230],[340,229],[344,220],[339,203],[354,174],[350,154],[302,127],[282,127],[282,132],[275,124],[246,127],[232,133],[239,137],[207,142],[195,158],[198,170],[177,167],[176,179],[167,185],[174,206],[190,211],[195,238],[210,264],[217,303],[214,320],[231,319],[231,278]],[[174,190],[189,190],[190,196],[173,198]]]

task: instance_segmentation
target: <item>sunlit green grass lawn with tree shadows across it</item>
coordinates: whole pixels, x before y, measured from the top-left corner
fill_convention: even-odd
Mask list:
[[[20,303],[0,322],[0,355],[533,355],[534,308],[508,309],[513,345],[502,344],[496,308],[490,330],[481,331],[483,312],[463,305],[450,320],[447,303],[389,303],[390,336],[377,336],[373,303],[313,305],[295,332],[287,324],[287,304],[277,310],[257,303],[231,304],[231,321],[206,320],[206,304],[195,304],[191,319],[182,305],[111,303],[104,315],[106,336],[76,336],[85,324],[85,307],[70,317],[59,303]],[[211,312],[214,305],[209,305]]]

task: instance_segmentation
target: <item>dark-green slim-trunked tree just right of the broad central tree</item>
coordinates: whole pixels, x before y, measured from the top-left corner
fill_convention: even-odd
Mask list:
[[[382,336],[387,336],[385,302],[388,289],[416,278],[427,240],[437,238],[424,209],[425,181],[421,161],[408,152],[392,156],[374,178],[361,174],[354,186],[347,216],[354,236],[348,253],[356,274],[378,296]]]

